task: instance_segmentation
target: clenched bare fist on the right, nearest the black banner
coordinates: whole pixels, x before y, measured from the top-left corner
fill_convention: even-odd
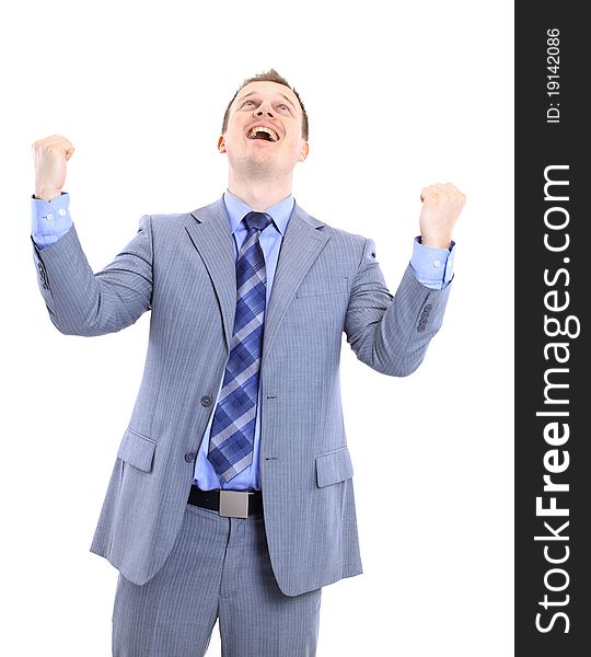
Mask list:
[[[420,243],[433,249],[449,249],[453,227],[466,197],[451,183],[438,183],[424,187],[420,199]]]

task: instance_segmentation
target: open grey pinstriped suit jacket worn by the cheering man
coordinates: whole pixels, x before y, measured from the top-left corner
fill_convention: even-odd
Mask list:
[[[151,311],[143,378],[91,545],[142,585],[176,539],[230,354],[236,285],[223,199],[142,217],[137,235],[97,274],[73,227],[35,247],[34,260],[51,321],[65,334],[119,331]],[[294,206],[260,368],[264,520],[283,593],[362,572],[339,390],[343,332],[361,361],[407,376],[441,325],[449,290],[420,285],[408,268],[393,296],[372,240]]]

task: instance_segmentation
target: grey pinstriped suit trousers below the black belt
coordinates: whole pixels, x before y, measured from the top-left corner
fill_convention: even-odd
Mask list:
[[[119,574],[114,657],[202,657],[219,618],[222,657],[316,655],[322,589],[286,596],[262,516],[187,504],[171,554],[143,586]]]

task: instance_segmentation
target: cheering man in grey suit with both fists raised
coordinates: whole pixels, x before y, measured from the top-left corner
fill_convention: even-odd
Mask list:
[[[322,587],[361,573],[343,331],[361,361],[407,376],[450,291],[464,196],[451,184],[422,189],[421,237],[393,297],[372,240],[294,203],[308,116],[275,70],[239,89],[218,150],[223,197],[142,217],[94,275],[61,192],[73,147],[60,136],[34,145],[34,257],[51,321],[101,335],[151,311],[91,546],[119,570],[116,656],[204,655],[218,618],[227,656],[315,655]]]

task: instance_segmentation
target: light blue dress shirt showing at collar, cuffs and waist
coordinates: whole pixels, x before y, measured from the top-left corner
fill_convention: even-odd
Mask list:
[[[229,189],[223,195],[225,209],[228,210],[228,219],[230,222],[230,231],[234,244],[234,260],[237,261],[240,247],[246,239],[247,230],[242,223],[243,217],[252,211],[244,201],[234,196]],[[267,307],[269,304],[270,292],[273,289],[273,280],[277,267],[277,260],[281,249],[281,242],[289,224],[289,218],[293,210],[294,199],[290,195],[265,212],[273,218],[271,223],[260,233],[260,247],[265,256],[265,269],[267,274]],[[70,197],[66,192],[61,196],[51,200],[42,200],[32,197],[32,235],[38,249],[46,249],[61,237],[63,237],[71,228],[72,220],[70,217]],[[453,277],[453,256],[455,253],[455,244],[452,242],[451,249],[431,249],[424,246],[419,242],[419,238],[415,238],[413,257],[410,258],[410,267],[417,277],[417,280],[426,287],[432,289],[441,289],[445,287]],[[222,376],[223,380],[223,376]],[[259,443],[260,443],[260,415],[257,410],[255,434],[254,434],[254,451],[253,462],[248,468],[239,473],[229,482],[223,482],[213,466],[207,459],[209,448],[209,436],[211,431],[211,423],[218,404],[222,381],[219,383],[216,404],[206,427],[201,446],[197,453],[195,463],[194,483],[202,491],[212,488],[228,488],[233,491],[260,491],[260,469],[258,464]],[[258,406],[260,408],[260,388],[258,389]]]

